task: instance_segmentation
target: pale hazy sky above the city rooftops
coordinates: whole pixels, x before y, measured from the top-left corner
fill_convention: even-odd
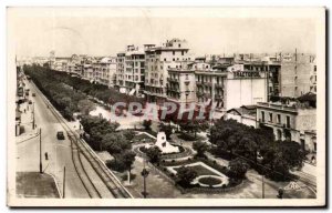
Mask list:
[[[310,18],[156,16],[129,11],[40,9],[10,13],[8,27],[19,57],[115,55],[127,44],[160,44],[186,39],[196,55],[222,53],[315,53],[315,22]],[[101,16],[102,14],[102,16]],[[115,16],[114,16],[115,14]]]

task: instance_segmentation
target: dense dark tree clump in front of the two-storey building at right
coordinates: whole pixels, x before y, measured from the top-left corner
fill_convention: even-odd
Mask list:
[[[293,141],[276,141],[268,128],[253,129],[235,120],[219,120],[210,130],[212,152],[221,158],[245,160],[258,172],[287,180],[289,171],[301,168],[305,152]]]

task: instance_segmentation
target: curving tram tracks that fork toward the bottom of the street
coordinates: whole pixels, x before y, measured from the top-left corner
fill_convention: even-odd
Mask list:
[[[83,163],[81,161],[80,153],[82,153],[100,179],[103,181],[105,186],[110,190],[112,195],[115,199],[133,199],[133,195],[121,184],[117,178],[107,169],[107,166],[102,162],[95,152],[90,148],[89,144],[84,140],[82,140],[77,132],[73,131],[66,120],[56,111],[56,109],[50,103],[50,101],[43,95],[43,93],[31,82],[35,88],[35,91],[42,98],[43,102],[49,106],[50,111],[63,126],[64,131],[66,132],[69,139],[71,140],[72,144],[72,159],[82,181],[86,192],[89,193],[90,197],[102,197],[101,193],[97,191],[96,186],[94,185],[93,181],[89,178]]]

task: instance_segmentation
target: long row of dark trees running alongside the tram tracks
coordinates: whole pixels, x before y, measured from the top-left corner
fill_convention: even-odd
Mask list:
[[[135,136],[134,131],[116,131],[120,126],[117,122],[108,122],[100,116],[89,115],[89,112],[94,109],[94,103],[87,99],[85,92],[89,91],[90,94],[93,91],[101,92],[102,90],[97,88],[102,87],[95,84],[90,90],[81,91],[77,89],[81,80],[39,65],[25,65],[24,72],[31,77],[37,87],[65,119],[72,120],[74,112],[82,112],[81,124],[86,133],[84,134],[86,142],[93,150],[107,151],[114,156],[114,160],[108,162],[112,169],[118,171],[132,169],[135,160],[131,144]],[[82,80],[82,82],[84,81]],[[75,85],[75,83],[77,84]],[[90,88],[84,84],[80,89]]]

